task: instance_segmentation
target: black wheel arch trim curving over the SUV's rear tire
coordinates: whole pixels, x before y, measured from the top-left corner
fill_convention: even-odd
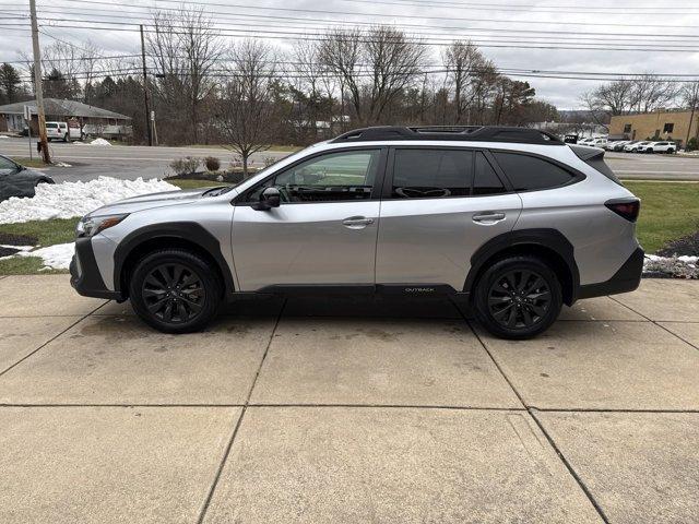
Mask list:
[[[544,259],[560,278],[564,303],[576,301],[580,273],[570,241],[557,229],[521,229],[503,233],[481,246],[471,257],[471,269],[463,290],[473,296],[473,287],[483,272],[497,260],[512,255]]]

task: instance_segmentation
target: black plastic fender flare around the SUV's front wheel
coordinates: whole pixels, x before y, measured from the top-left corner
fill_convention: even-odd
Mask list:
[[[167,238],[186,240],[209,253],[221,271],[226,287],[226,295],[235,291],[235,284],[230,273],[232,270],[221,251],[221,242],[218,242],[218,239],[196,222],[167,222],[135,229],[119,242],[114,253],[114,283],[117,293],[126,296],[121,289],[121,276],[125,263],[133,250],[149,240]]]

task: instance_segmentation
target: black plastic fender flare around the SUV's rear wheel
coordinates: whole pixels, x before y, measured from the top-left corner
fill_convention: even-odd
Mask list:
[[[518,246],[537,246],[556,253],[566,264],[571,277],[569,301],[576,300],[580,288],[580,272],[573,254],[573,247],[558,229],[535,228],[503,233],[482,245],[471,257],[471,269],[466,275],[463,290],[470,293],[488,260],[498,253]]]

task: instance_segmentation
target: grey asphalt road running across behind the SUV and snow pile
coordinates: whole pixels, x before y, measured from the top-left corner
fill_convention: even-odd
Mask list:
[[[0,153],[15,157],[28,156],[27,139],[1,139]],[[47,172],[57,181],[90,180],[100,175],[134,179],[138,177],[162,178],[169,172],[169,163],[183,156],[216,156],[227,165],[235,154],[220,147],[147,147],[147,146],[99,146],[88,144],[50,144],[52,157],[72,167],[50,167]],[[36,152],[33,146],[33,152]],[[265,158],[283,158],[288,152],[265,151],[252,156],[252,166],[264,165]],[[607,153],[612,169],[628,179],[695,180],[699,181],[699,157],[676,155],[642,155]]]

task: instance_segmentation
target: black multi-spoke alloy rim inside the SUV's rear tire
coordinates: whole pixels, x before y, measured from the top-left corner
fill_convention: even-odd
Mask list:
[[[533,271],[513,270],[500,276],[488,293],[490,315],[508,329],[531,327],[550,307],[550,289]]]

